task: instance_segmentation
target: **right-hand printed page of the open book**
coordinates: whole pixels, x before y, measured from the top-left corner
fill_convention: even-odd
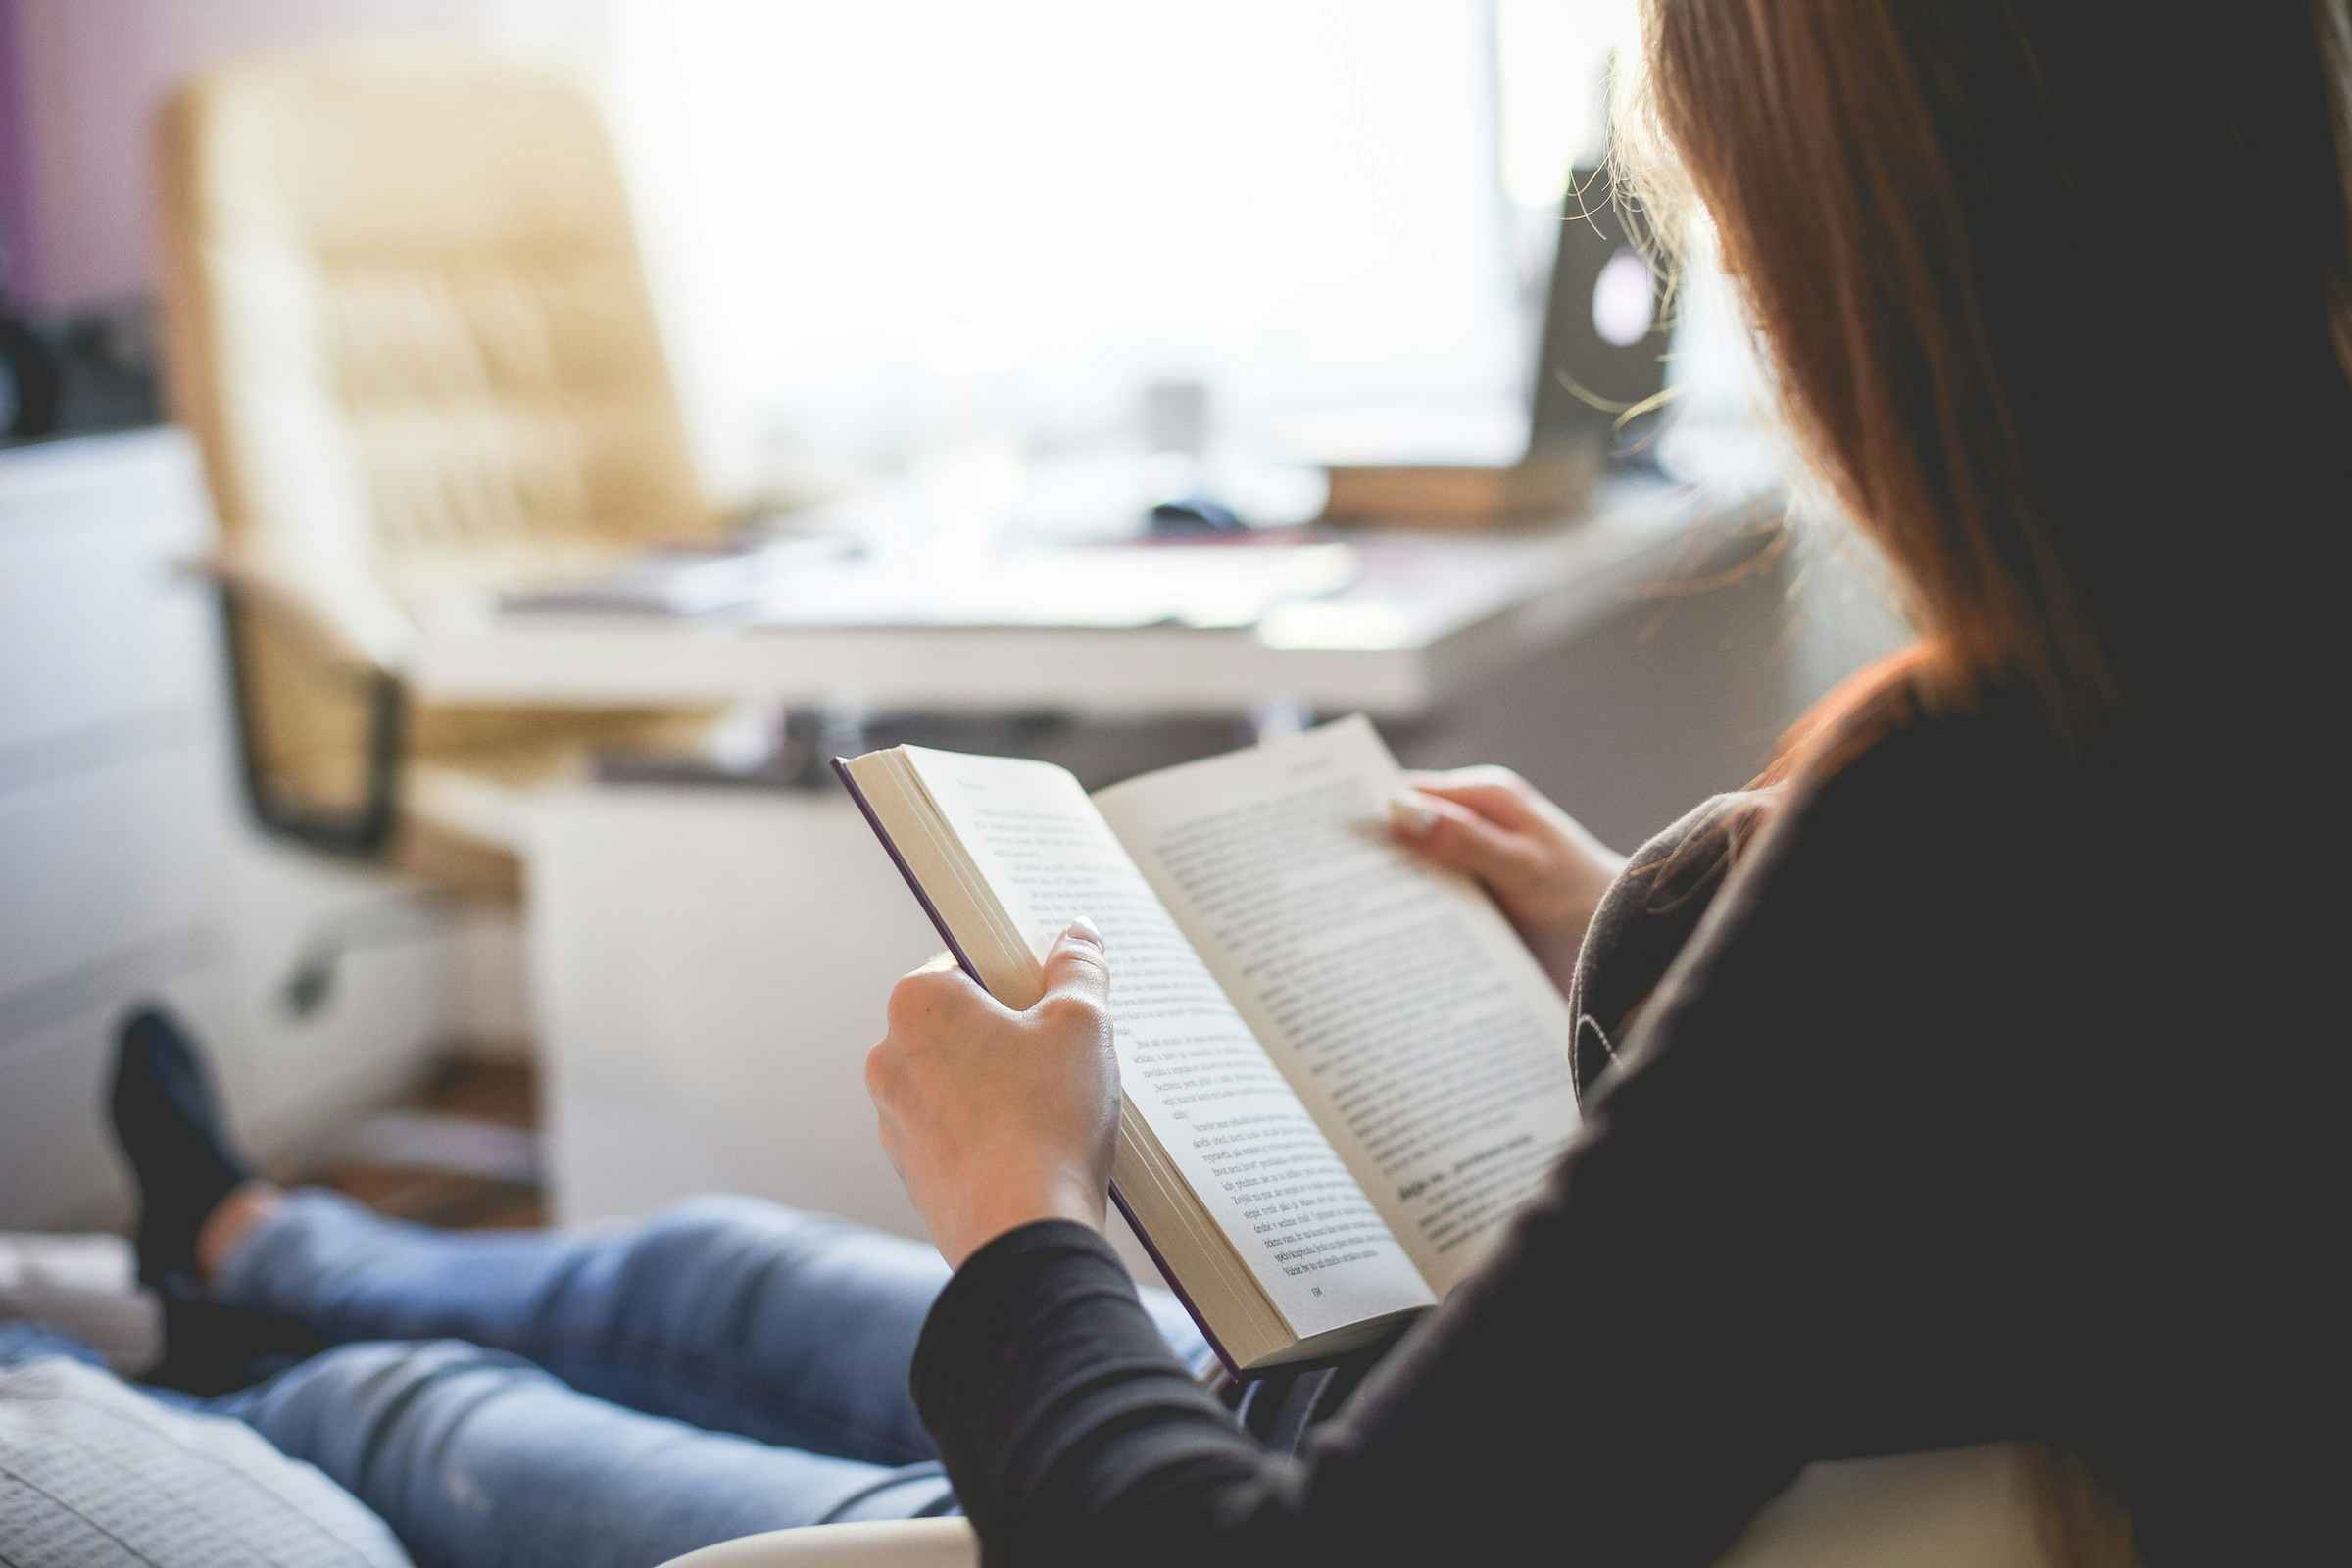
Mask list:
[[[1494,900],[1390,839],[1397,785],[1343,719],[1096,804],[1444,1293],[1576,1131],[1571,1030]]]

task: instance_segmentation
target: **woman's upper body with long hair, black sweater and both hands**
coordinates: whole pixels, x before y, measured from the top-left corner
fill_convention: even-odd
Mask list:
[[[2352,501],[2345,7],[1651,0],[1646,54],[1635,129],[1919,642],[1599,893],[1508,780],[1404,804],[1581,952],[1585,1126],[1303,1441],[1101,1239],[1120,943],[1023,1013],[910,976],[870,1084],[957,1265],[915,1396],[995,1561],[1703,1563],[1811,1460],[1997,1439],[2065,1455],[2084,1559],[2286,1556],[2324,1495],[2310,1241],[2260,1241],[2331,1192],[2272,1159],[2307,872],[2199,837],[2291,776],[2288,541]]]

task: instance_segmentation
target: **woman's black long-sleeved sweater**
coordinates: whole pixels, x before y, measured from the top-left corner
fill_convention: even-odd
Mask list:
[[[1705,1563],[1811,1460],[1992,1439],[2082,1455],[2147,1561],[2251,1561],[2288,1528],[2251,1347],[2291,1331],[2241,1225],[2277,1197],[2260,1121],[2204,1114],[2176,980],[2220,889],[2145,778],[1945,717],[1637,856],[1576,987],[1583,1135],[1296,1455],[1185,1378],[1101,1237],[981,1248],[915,1399],[990,1561]],[[1693,922],[1616,1037],[1625,945]]]

